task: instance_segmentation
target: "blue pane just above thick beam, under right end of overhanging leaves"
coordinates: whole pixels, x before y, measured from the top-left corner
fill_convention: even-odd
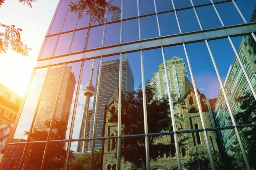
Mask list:
[[[120,43],[121,22],[110,23],[106,25],[104,46]]]

